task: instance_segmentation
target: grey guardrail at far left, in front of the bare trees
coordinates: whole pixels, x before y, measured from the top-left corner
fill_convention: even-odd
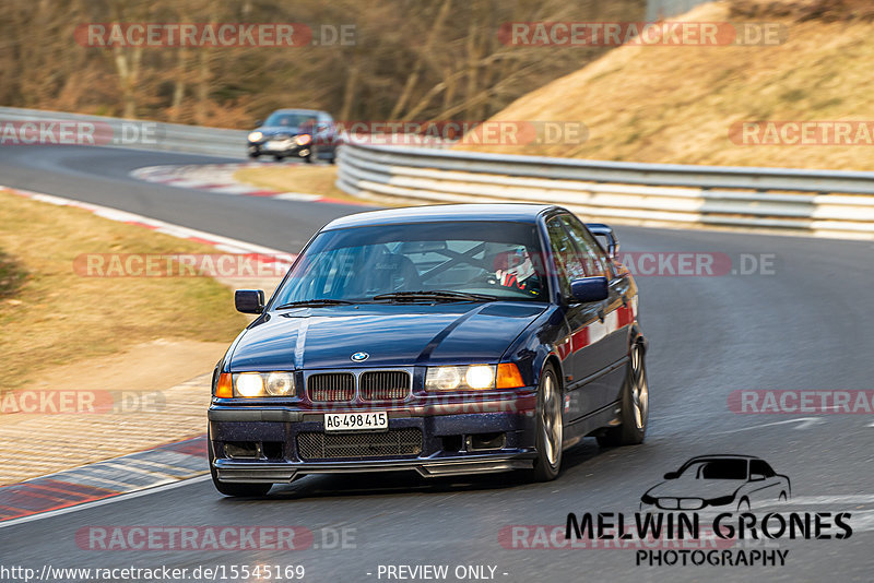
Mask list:
[[[246,155],[246,134],[241,130],[203,128],[181,123],[163,123],[157,121],[110,118],[105,116],[87,116],[63,111],[44,111],[42,109],[22,109],[17,107],[0,107],[0,123],[3,122],[51,122],[73,121],[95,123],[103,131],[97,145],[111,147],[129,147],[135,150],[158,150],[168,152],[187,152],[241,158]],[[111,133],[111,135],[109,135]],[[4,143],[8,143],[4,142]],[[39,143],[51,143],[40,140]]]

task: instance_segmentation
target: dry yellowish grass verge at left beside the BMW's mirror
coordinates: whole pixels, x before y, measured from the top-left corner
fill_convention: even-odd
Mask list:
[[[209,246],[0,191],[2,388],[155,338],[229,342],[246,325],[209,277],[87,277],[84,253],[212,253]]]

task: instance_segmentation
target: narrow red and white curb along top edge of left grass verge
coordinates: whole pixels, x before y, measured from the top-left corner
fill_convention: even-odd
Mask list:
[[[0,190],[5,190],[13,194],[17,194],[19,197],[25,197],[35,201],[56,204],[58,206],[74,206],[76,209],[83,209],[109,221],[116,221],[118,223],[125,223],[128,225],[137,225],[154,230],[155,233],[169,235],[170,237],[177,237],[179,239],[187,239],[189,241],[209,245],[214,247],[216,250],[224,251],[226,253],[251,255],[256,262],[269,264],[274,270],[290,267],[296,257],[287,251],[280,251],[279,249],[271,249],[269,247],[262,247],[260,245],[231,239],[228,237],[223,237],[212,233],[205,233],[189,227],[182,227],[180,225],[174,225],[172,223],[165,223],[164,221],[158,221],[156,218],[149,218],[146,216],[129,213],[127,211],[110,209],[109,206],[102,206],[99,204],[92,204],[90,202],[75,201],[72,199],[64,199],[63,197],[56,197],[54,194],[33,192],[31,190],[4,187],[2,185],[0,185]]]

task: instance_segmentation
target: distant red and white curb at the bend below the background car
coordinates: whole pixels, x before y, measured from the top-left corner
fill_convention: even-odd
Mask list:
[[[285,164],[285,166],[300,166],[300,163]],[[233,197],[262,197],[297,202],[329,202],[339,204],[361,204],[351,201],[309,194],[306,192],[282,192],[270,190],[253,185],[247,185],[234,179],[234,174],[246,168],[276,167],[275,163],[247,162],[227,164],[189,164],[181,166],[146,166],[130,172],[132,178],[146,182],[156,182],[168,187],[204,190],[216,194]]]

